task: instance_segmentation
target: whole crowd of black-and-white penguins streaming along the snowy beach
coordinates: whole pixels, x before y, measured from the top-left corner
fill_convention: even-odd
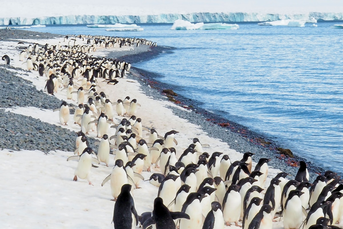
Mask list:
[[[77,40],[86,40],[87,45],[75,45]],[[114,228],[223,229],[234,224],[243,229],[272,229],[272,222],[282,218],[285,229],[323,229],[337,228],[333,225],[343,222],[343,185],[336,173],[318,175],[312,184],[301,161],[295,180],[288,180],[288,174],[282,172],[266,183],[269,159],[261,158],[252,169],[253,153],[246,152],[240,161],[232,162],[228,154],[204,152],[203,148],[210,146],[198,138],[177,158],[178,131],[162,137],[135,116],[140,106],[136,99],[127,96],[111,102],[104,92],[98,92],[97,82],[117,84],[115,78],[125,77],[130,63],[94,57],[91,52],[99,47],[156,43],[86,35],[67,35],[64,41],[67,46],[30,45],[19,59],[26,59],[28,70],[45,75],[48,94],[67,90],[68,99],[77,99],[78,106],[69,107],[63,101],[55,110],[60,123],[67,125],[69,110],[74,109],[74,125],[80,126],[75,156],[67,159],[78,160],[73,180],[86,179],[92,184],[91,170],[108,166],[110,154],[114,154],[111,174],[97,178],[103,179],[102,186],[110,183],[109,194],[116,201]],[[10,64],[7,55],[2,59]],[[122,119],[117,119],[120,116]],[[100,139],[96,152],[87,142],[90,131],[96,131]],[[151,167],[160,170],[147,180],[159,187],[158,194],[153,211],[139,216],[131,191],[144,180],[142,171],[150,172]]]

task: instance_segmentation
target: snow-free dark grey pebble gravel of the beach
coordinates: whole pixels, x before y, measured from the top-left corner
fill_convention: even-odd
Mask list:
[[[54,37],[63,36],[23,30],[0,30],[0,41]],[[192,112],[187,112],[172,106],[169,107],[175,115],[187,119],[190,123],[202,126],[202,129],[209,136],[227,142],[230,148],[242,153],[247,151],[255,153],[253,161],[258,162],[260,158],[270,158],[269,166],[290,173],[289,179],[294,178],[298,170],[295,165],[300,160],[304,160],[308,165],[310,181],[314,181],[317,176],[316,173],[324,172],[324,169],[316,167],[315,164],[297,155],[294,155],[294,158],[284,156],[278,150],[278,148],[284,147],[273,143],[261,134],[250,131],[245,126],[203,110],[200,107],[201,104],[197,101],[192,101],[180,95],[171,95],[170,91],[165,91],[167,93],[163,92],[164,90],[172,90],[173,88],[170,88],[167,84],[158,82],[158,77],[160,76],[156,73],[134,68],[134,63],[149,60],[160,53],[172,52],[173,49],[172,47],[163,46],[140,46],[134,51],[111,52],[108,54],[108,57],[131,62],[133,65],[131,68],[132,74],[128,78],[138,80],[142,85],[141,90],[146,95],[152,96],[155,100],[169,100],[185,107],[187,110],[192,110]],[[3,56],[4,54],[0,49],[0,55]],[[4,65],[0,65],[1,108],[12,106],[35,106],[43,109],[58,108],[59,105],[57,106],[56,104],[61,103],[59,99],[47,95],[42,90],[37,90],[31,82],[16,76],[12,71],[8,71],[3,67]],[[40,122],[38,119],[32,117],[4,112],[3,109],[0,110],[0,117],[2,120],[0,131],[3,133],[0,136],[0,148],[2,149],[37,149],[44,152],[56,149],[74,151],[76,134],[73,131]],[[94,139],[90,141],[91,145],[93,145],[93,142]]]

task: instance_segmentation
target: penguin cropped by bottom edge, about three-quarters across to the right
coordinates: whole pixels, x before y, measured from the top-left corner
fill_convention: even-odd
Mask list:
[[[248,229],[272,229],[273,221],[270,212],[272,207],[269,204],[262,205],[260,211],[251,220]]]

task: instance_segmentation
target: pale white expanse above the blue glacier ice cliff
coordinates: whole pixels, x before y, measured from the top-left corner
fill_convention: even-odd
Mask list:
[[[4,1],[0,0],[0,18],[60,15],[146,15],[191,12],[303,13],[343,12],[339,0],[130,0],[127,5],[113,0]]]

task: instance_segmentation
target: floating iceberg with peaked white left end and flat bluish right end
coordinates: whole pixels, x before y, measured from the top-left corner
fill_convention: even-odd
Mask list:
[[[237,24],[226,23],[208,23],[199,22],[193,24],[189,21],[181,19],[175,20],[171,30],[237,30],[239,26]]]

